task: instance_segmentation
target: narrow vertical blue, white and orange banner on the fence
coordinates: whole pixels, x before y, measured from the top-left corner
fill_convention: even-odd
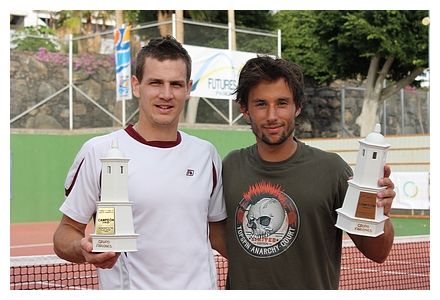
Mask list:
[[[115,30],[116,101],[130,100],[131,93],[131,26]]]

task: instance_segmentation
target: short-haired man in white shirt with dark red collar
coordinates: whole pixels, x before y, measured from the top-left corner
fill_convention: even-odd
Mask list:
[[[178,130],[191,58],[174,38],[151,40],[136,60],[134,125],[87,141],[68,172],[54,249],[98,268],[102,289],[216,289],[212,248],[226,256],[221,159],[212,144]],[[85,228],[100,198],[100,158],[113,140],[129,158],[137,252],[92,253]]]

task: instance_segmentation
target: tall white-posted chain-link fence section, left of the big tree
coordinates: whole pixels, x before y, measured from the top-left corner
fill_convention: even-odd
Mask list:
[[[228,26],[189,20],[183,23],[184,44],[229,49]],[[132,62],[138,50],[151,38],[175,35],[175,26],[173,18],[132,28]],[[239,51],[279,52],[279,33],[240,29],[235,32]],[[19,50],[17,45],[21,41],[30,43],[33,51]],[[48,43],[55,46],[48,47]],[[11,128],[79,129],[118,127],[135,122],[137,100],[115,101],[113,47],[113,30],[66,39],[17,33],[11,36]],[[230,101],[201,99],[193,122],[229,122],[222,115],[228,115],[231,110]],[[188,106],[186,113],[189,113]],[[238,109],[232,110],[234,118],[239,117]]]

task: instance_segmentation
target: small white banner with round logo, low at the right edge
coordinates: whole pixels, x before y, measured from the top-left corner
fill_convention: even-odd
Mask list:
[[[392,208],[429,209],[428,172],[394,172],[390,178],[396,192]]]

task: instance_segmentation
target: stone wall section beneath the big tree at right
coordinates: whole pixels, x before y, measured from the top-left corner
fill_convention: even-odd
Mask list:
[[[343,88],[344,125],[341,124]],[[303,138],[359,136],[356,118],[362,111],[364,91],[358,83],[338,80],[329,87],[308,87],[305,94],[307,99],[298,117],[296,135]],[[429,133],[428,92],[408,87],[394,94],[379,105],[378,122],[387,135]]]

